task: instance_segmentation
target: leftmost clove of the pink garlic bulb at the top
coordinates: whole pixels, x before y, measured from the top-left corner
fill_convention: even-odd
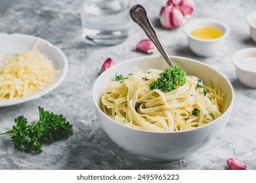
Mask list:
[[[171,29],[174,25],[171,23],[171,14],[173,12],[173,8],[171,7],[162,7],[160,10],[160,23],[163,27],[167,29]]]

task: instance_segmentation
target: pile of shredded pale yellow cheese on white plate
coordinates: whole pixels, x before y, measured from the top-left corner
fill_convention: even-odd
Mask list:
[[[38,50],[7,54],[0,65],[0,100],[20,99],[39,92],[51,83],[59,71]]]

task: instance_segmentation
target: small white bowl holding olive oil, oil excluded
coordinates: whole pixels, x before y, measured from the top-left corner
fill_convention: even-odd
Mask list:
[[[215,27],[219,29],[223,35],[217,39],[199,39],[191,35],[192,31],[200,27]],[[198,18],[190,20],[184,25],[184,32],[188,37],[188,46],[194,54],[202,57],[215,56],[221,49],[224,39],[229,33],[229,28],[223,22],[210,18]]]

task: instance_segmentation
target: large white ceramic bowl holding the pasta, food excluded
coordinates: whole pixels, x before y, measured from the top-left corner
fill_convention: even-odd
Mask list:
[[[93,101],[96,116],[106,134],[119,146],[151,161],[174,161],[200,150],[208,144],[223,129],[230,117],[234,103],[234,91],[228,79],[215,69],[194,59],[171,56],[175,65],[182,67],[187,75],[202,78],[205,84],[210,80],[217,90],[226,93],[224,114],[213,122],[186,131],[156,132],[135,129],[120,124],[108,117],[99,106],[100,93],[108,87],[110,80],[115,79],[116,73],[127,75],[134,73],[135,66],[140,69],[165,69],[167,63],[160,56],[146,56],[129,59],[106,70],[100,75],[93,86]]]

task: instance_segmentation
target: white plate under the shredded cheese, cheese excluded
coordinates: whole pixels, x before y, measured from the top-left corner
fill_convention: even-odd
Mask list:
[[[37,39],[38,37],[33,37],[31,35],[23,35],[16,33],[9,35],[6,33],[0,33],[0,52],[14,54],[30,50],[35,41],[37,41]],[[64,80],[65,76],[68,73],[68,60],[62,52],[62,50],[51,44],[51,42],[46,41],[44,39],[40,39],[40,41],[38,42],[37,50],[39,50],[42,54],[51,59],[51,61],[53,61],[54,69],[58,69],[60,71],[59,75],[56,76],[54,81],[51,82],[51,84],[49,84],[45,89],[40,90],[39,92],[33,95],[24,97],[22,99],[0,100],[0,107],[17,105],[42,97],[43,95],[51,92]]]

